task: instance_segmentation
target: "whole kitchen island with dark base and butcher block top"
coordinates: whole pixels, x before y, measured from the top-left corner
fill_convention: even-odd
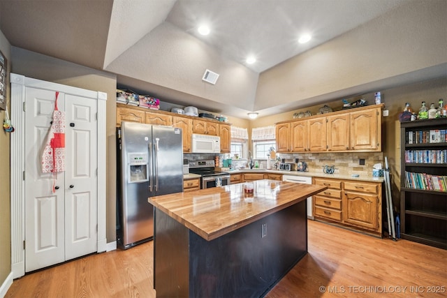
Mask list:
[[[307,253],[306,198],[326,187],[253,184],[149,198],[157,297],[262,297]]]

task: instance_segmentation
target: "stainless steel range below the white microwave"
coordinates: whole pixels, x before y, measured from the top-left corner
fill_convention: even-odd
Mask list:
[[[200,174],[200,188],[211,188],[230,184],[230,174],[214,170],[214,161],[189,161],[189,172]]]

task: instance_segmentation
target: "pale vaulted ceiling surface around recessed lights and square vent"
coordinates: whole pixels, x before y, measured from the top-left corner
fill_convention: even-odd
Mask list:
[[[14,47],[115,73],[119,87],[242,117],[256,110],[260,73],[404,2],[0,0],[0,30]],[[298,43],[301,33],[312,40]],[[201,80],[205,69],[217,84]]]

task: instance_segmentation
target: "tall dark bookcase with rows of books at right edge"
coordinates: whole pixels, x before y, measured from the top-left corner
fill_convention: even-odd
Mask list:
[[[446,131],[447,118],[400,124],[400,236],[444,249],[447,249],[447,192],[443,184],[447,179]]]

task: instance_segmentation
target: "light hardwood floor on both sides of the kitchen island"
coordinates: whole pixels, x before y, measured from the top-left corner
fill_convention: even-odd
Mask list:
[[[152,250],[150,241],[36,271],[6,297],[155,297]],[[309,253],[266,297],[447,297],[447,251],[309,221]]]

